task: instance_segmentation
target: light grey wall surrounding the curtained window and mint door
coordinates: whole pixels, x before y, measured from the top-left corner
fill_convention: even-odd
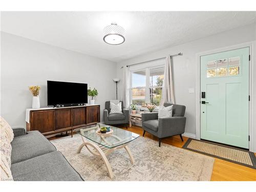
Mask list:
[[[151,59],[165,57],[169,54],[177,54],[182,52],[183,56],[173,57],[175,98],[177,104],[186,105],[185,116],[187,117],[187,122],[185,132],[196,134],[196,94],[188,93],[189,88],[196,88],[196,54],[208,50],[241,44],[247,41],[253,41],[256,39],[255,31],[255,24],[252,24],[206,38],[191,41],[183,45],[170,47],[157,52],[148,53],[132,59],[124,60],[117,63],[117,76],[118,78],[122,79],[122,70],[120,69],[121,66],[131,65],[133,63],[144,62]],[[255,46],[254,50],[256,50]],[[254,74],[256,77],[255,71],[256,68],[254,68]],[[122,82],[120,82],[120,84],[121,83]],[[119,89],[119,95],[121,97],[121,88]]]

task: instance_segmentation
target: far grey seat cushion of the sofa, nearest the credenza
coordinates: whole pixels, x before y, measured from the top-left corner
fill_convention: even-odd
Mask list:
[[[55,146],[38,131],[14,137],[12,145],[12,164],[56,151]]]

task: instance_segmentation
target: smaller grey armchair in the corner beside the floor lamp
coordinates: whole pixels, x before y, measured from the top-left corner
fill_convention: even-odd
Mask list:
[[[129,109],[124,109],[123,102],[121,101],[121,103],[123,114],[110,114],[110,101],[105,102],[105,109],[103,111],[104,123],[108,125],[124,124],[127,129],[127,124],[129,123]]]

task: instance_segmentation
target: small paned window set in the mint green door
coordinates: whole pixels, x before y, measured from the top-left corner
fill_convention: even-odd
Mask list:
[[[206,77],[228,77],[240,74],[240,57],[222,58],[208,61]]]

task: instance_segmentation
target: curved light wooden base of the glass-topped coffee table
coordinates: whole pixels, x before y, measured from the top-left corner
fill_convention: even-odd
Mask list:
[[[112,137],[115,137],[117,140],[121,141],[120,138],[118,138],[117,136],[115,135],[109,135],[109,136],[112,136]],[[109,173],[109,176],[110,178],[112,179],[114,177],[114,174],[112,172],[112,168],[111,168],[111,165],[110,165],[110,162],[109,160],[106,158],[106,156],[108,156],[110,153],[112,153],[113,151],[119,149],[119,148],[124,148],[125,151],[127,152],[127,154],[129,155],[130,157],[130,160],[131,160],[131,163],[134,163],[134,157],[131,153],[131,150],[130,148],[127,146],[127,144],[129,143],[125,143],[123,145],[120,145],[120,146],[117,146],[117,147],[114,147],[114,148],[108,148],[108,147],[105,147],[101,144],[95,144],[94,142],[91,142],[91,141],[85,141],[84,140],[84,137],[82,137],[82,140],[83,140],[83,143],[79,146],[78,150],[77,150],[77,153],[79,154],[82,150],[82,147],[83,146],[86,146],[88,151],[101,158],[103,160],[103,162],[105,163],[106,165],[106,169],[108,170],[108,173]],[[104,140],[106,143],[110,144],[108,141],[105,140],[104,138],[105,136],[101,136],[102,140]]]

